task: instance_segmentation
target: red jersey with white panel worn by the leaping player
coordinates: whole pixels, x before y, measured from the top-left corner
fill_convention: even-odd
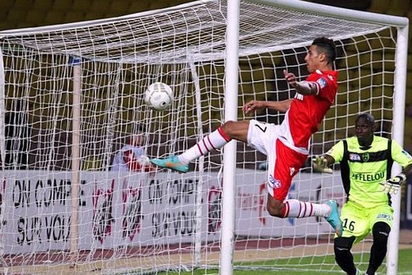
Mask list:
[[[316,83],[316,95],[296,94],[282,122],[284,133],[282,140],[291,148],[301,153],[308,153],[312,133],[319,129],[319,124],[334,103],[338,91],[337,71],[321,72],[316,70],[306,81]]]

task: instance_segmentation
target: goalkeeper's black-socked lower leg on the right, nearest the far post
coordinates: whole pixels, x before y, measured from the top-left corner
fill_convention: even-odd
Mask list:
[[[367,275],[375,274],[378,267],[382,264],[383,259],[385,259],[389,232],[391,232],[391,228],[387,223],[378,221],[374,224],[372,228],[374,243],[371,247],[369,266],[366,272]]]

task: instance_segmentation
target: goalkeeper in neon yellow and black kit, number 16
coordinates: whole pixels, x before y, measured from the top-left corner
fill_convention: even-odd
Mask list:
[[[341,211],[343,235],[334,239],[336,263],[350,275],[361,274],[355,267],[352,245],[363,240],[369,232],[374,243],[366,275],[375,274],[387,252],[387,241],[393,222],[390,194],[412,174],[412,157],[394,140],[374,135],[375,120],[369,113],[358,115],[354,137],[332,146],[330,151],[317,156],[313,168],[332,173],[328,166],[339,162],[347,201]],[[404,170],[389,179],[393,161]]]

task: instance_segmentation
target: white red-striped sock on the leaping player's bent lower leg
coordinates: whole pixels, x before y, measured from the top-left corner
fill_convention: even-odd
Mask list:
[[[285,218],[326,217],[330,212],[330,207],[325,203],[311,203],[297,199],[286,200],[284,207],[286,207]]]

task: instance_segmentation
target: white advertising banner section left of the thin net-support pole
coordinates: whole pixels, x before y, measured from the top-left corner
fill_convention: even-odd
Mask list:
[[[6,254],[67,249],[71,207],[67,176],[5,172],[1,210]]]

